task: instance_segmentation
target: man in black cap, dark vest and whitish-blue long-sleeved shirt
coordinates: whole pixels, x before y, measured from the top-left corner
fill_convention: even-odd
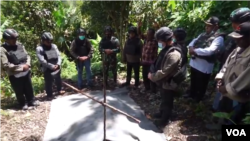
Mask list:
[[[188,45],[189,53],[193,57],[190,60],[191,86],[187,96],[197,102],[201,101],[206,93],[217,53],[224,47],[224,34],[218,30],[219,19],[215,16],[210,17],[205,24],[206,32]]]

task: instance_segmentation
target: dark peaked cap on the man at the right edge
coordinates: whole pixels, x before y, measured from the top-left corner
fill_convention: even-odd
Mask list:
[[[240,24],[238,28],[234,32],[230,33],[228,36],[231,36],[233,38],[250,36],[250,22]]]

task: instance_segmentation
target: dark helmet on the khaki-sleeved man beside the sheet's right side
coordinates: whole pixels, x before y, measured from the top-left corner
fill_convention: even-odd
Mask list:
[[[168,39],[173,37],[173,31],[168,27],[161,27],[155,33],[156,40],[167,41]]]

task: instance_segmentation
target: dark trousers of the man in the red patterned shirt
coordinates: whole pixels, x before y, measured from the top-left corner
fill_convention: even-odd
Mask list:
[[[151,92],[156,92],[156,84],[148,79],[148,73],[150,71],[150,65],[142,66],[142,77],[143,83],[146,90],[151,90]]]

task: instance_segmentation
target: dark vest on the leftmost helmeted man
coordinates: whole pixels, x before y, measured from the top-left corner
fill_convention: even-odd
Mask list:
[[[19,65],[25,63],[28,58],[27,52],[25,52],[24,47],[21,43],[17,43],[15,46],[9,46],[3,44],[6,49],[8,61],[14,65]]]

